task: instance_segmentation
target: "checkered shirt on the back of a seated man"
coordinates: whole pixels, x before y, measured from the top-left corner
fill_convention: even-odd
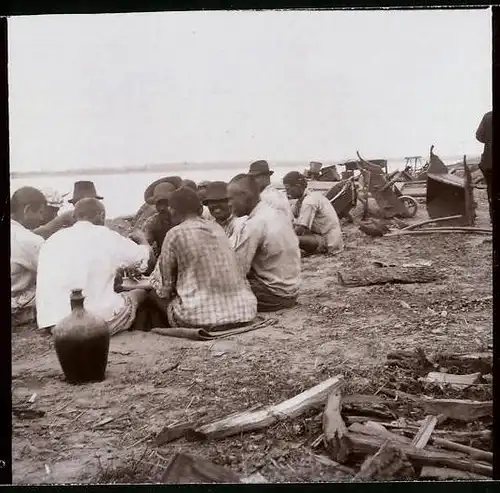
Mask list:
[[[165,236],[157,269],[161,284],[174,285],[176,318],[190,326],[247,322],[257,301],[241,275],[224,230],[214,221],[187,219]]]

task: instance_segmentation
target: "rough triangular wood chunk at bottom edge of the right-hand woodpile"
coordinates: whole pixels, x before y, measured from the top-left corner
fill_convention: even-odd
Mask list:
[[[391,444],[390,440],[386,440],[375,455],[368,457],[363,462],[354,479],[389,480],[395,477],[408,479],[414,476],[415,472],[405,453],[399,447]]]

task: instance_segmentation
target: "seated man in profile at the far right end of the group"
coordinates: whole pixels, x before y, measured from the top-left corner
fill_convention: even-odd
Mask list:
[[[335,254],[344,249],[344,240],[337,212],[320,192],[307,189],[306,178],[298,171],[283,177],[290,199],[297,199],[293,215],[299,245],[306,253]]]

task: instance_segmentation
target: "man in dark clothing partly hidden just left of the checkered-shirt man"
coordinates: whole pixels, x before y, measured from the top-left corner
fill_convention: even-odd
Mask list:
[[[175,185],[170,182],[163,182],[156,185],[153,196],[150,199],[150,202],[156,208],[156,213],[146,219],[141,228],[153,248],[155,259],[160,254],[165,235],[173,226],[168,210],[168,200],[175,190]],[[148,270],[151,270],[151,268],[152,265],[150,265],[150,269]]]

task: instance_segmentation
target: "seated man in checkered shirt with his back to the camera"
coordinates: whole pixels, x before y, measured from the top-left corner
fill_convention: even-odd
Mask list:
[[[224,230],[201,217],[198,195],[172,193],[172,220],[150,277],[150,293],[171,327],[226,329],[251,322],[257,300],[238,268]]]

